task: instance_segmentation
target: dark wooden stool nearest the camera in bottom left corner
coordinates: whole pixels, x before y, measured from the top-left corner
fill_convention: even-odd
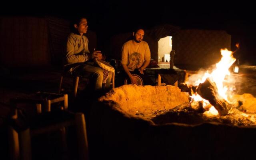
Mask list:
[[[18,110],[14,110],[14,114],[8,126],[8,142],[11,160],[31,160],[31,148],[33,147],[31,146],[32,138],[61,130],[68,126],[75,126],[76,128],[78,159],[88,160],[88,140],[84,114],[74,114],[65,110],[60,112],[45,112],[30,119],[29,126],[26,126],[26,123],[22,122],[22,119],[18,119]],[[47,154],[47,152],[45,154]]]

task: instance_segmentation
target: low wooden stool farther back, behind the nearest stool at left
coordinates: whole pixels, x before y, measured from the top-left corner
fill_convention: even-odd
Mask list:
[[[37,92],[29,98],[12,98],[10,105],[14,108],[17,104],[36,104],[37,113],[42,113],[42,105],[45,107],[46,112],[51,111],[51,104],[57,102],[64,102],[64,109],[68,109],[68,94],[56,94],[49,92]]]

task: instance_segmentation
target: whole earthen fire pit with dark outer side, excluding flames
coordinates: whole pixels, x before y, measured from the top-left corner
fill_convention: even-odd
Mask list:
[[[248,95],[237,98],[246,97],[252,101]],[[245,104],[225,116],[207,116],[174,86],[121,86],[92,106],[90,154],[147,160],[249,157],[256,117],[254,107]]]

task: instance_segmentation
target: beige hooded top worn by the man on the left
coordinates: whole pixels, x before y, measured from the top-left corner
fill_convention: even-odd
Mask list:
[[[67,40],[66,60],[68,64],[85,62],[89,59],[88,38],[70,33]]]

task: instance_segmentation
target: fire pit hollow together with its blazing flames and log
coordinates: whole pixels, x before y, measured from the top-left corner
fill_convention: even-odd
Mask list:
[[[141,118],[152,124],[207,122],[256,126],[256,110],[247,102],[249,99],[256,102],[256,98],[250,94],[233,93],[229,68],[236,59],[227,49],[221,50],[221,54],[220,62],[203,74],[190,76],[188,82],[180,85],[181,89],[125,85],[115,88],[99,101],[108,102],[112,109],[126,117]],[[184,90],[187,92],[182,92]]]

